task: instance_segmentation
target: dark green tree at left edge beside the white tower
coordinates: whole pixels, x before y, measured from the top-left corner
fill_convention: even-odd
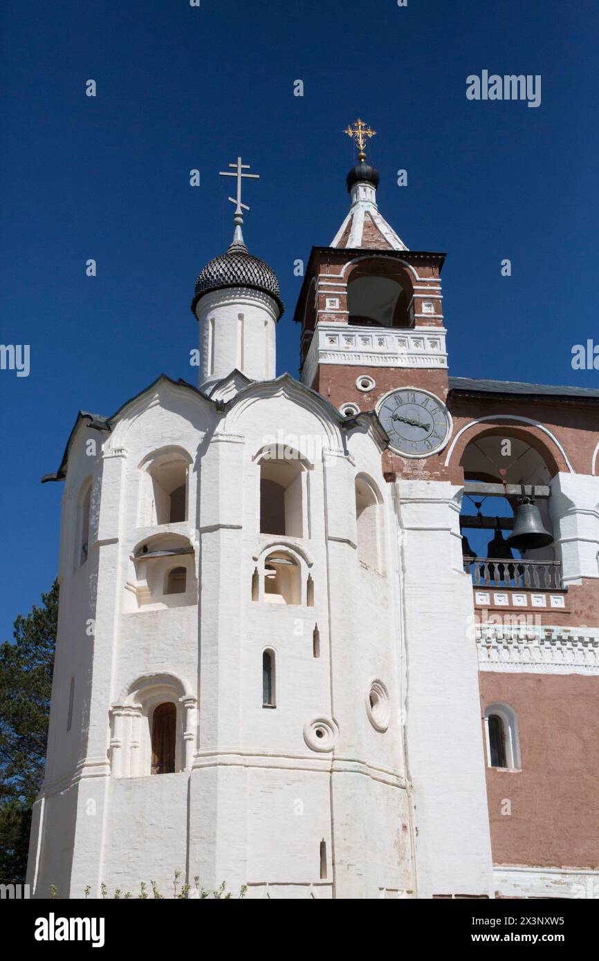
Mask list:
[[[43,778],[59,613],[55,580],[0,645],[0,882],[25,880],[31,809]]]

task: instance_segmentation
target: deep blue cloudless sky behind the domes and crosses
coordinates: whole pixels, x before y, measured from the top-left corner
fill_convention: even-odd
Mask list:
[[[293,261],[345,215],[342,131],[360,114],[378,132],[387,220],[413,250],[448,254],[450,372],[599,386],[570,363],[575,343],[599,341],[587,0],[37,0],[3,18],[1,339],[30,345],[31,373],[0,371],[0,638],[56,573],[62,484],[39,479],[78,409],[110,414],[161,372],[194,379],[189,302],[231,239],[218,171],[238,153],[261,174],[245,239],[287,305],[279,372],[297,374]],[[540,74],[540,107],[468,101],[484,69]]]

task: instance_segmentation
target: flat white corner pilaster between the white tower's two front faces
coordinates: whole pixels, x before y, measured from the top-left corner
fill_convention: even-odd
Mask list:
[[[200,302],[201,303],[201,302]],[[202,460],[198,743],[189,776],[187,872],[200,884],[246,882],[247,771],[241,762],[243,438],[215,434]]]

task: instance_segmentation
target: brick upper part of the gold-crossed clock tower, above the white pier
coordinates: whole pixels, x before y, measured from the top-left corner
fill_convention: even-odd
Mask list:
[[[444,477],[440,451],[450,425],[440,282],[445,254],[408,249],[377,204],[379,173],[364,153],[374,131],[359,119],[345,133],[358,143],[359,162],[347,175],[350,209],[331,245],[312,247],[298,298],[301,380],[348,416],[376,409],[386,429],[397,402],[406,402],[396,414],[402,420],[394,422],[404,435],[391,436],[386,470]],[[384,400],[398,388],[407,393],[387,405],[386,423]],[[414,426],[422,423],[422,405],[429,406],[426,393],[412,397],[414,391],[432,395],[430,434]]]

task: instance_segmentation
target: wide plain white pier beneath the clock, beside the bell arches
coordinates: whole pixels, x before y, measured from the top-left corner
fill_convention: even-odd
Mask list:
[[[492,897],[473,592],[462,570],[461,489],[448,481],[395,485],[417,896]]]

